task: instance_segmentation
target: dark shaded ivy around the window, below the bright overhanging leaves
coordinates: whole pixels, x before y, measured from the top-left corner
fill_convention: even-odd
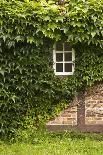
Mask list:
[[[51,42],[48,43],[51,45]],[[75,47],[74,47],[75,48]],[[38,127],[66,107],[79,90],[103,80],[103,52],[78,45],[73,76],[55,76],[52,48],[17,44],[0,52],[1,132]],[[86,51],[85,51],[86,50]]]

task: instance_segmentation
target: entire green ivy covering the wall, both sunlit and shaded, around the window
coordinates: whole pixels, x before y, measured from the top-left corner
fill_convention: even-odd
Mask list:
[[[102,1],[0,1],[1,134],[43,124],[76,92],[103,81]],[[75,73],[56,77],[52,47],[73,44]]]

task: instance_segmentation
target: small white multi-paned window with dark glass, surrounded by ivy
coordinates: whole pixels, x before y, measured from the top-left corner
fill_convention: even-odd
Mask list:
[[[53,61],[55,75],[72,75],[74,72],[74,50],[68,43],[54,45]]]

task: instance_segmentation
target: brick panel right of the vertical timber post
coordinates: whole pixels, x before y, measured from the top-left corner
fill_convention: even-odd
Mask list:
[[[103,124],[103,85],[95,86],[85,94],[85,124]]]

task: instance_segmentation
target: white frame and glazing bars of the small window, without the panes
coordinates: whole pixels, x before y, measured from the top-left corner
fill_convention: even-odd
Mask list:
[[[57,62],[56,61],[56,53],[63,53],[63,61]],[[64,61],[64,53],[72,53],[72,61]],[[72,48],[71,51],[64,51],[64,43],[63,43],[63,51],[56,51],[56,43],[53,47],[53,68],[55,75],[73,75],[75,69],[75,50]],[[63,72],[56,72],[56,63],[63,63]],[[72,72],[65,72],[64,71],[64,64],[65,63],[72,63]]]

